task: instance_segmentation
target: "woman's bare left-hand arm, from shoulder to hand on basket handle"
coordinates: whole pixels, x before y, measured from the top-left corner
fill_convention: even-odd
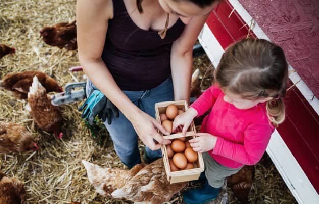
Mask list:
[[[111,0],[78,0],[77,40],[81,65],[94,85],[132,122],[143,143],[152,150],[159,149],[161,143],[168,144],[170,141],[161,137],[155,127],[163,134],[168,134],[167,131],[120,90],[101,58],[108,20],[112,17]],[[153,138],[159,144],[155,144]]]

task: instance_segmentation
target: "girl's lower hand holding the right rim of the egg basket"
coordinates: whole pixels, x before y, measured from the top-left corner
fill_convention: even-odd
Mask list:
[[[194,151],[205,152],[212,150],[215,147],[217,137],[208,133],[196,133],[195,136],[199,136],[188,140],[190,146],[193,147]]]

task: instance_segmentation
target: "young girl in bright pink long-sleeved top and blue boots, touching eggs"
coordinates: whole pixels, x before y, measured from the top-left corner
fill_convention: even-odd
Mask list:
[[[204,187],[184,193],[184,201],[213,200],[225,178],[262,157],[278,124],[285,118],[288,66],[283,50],[266,40],[244,39],[229,48],[215,71],[216,84],[183,114],[173,131],[186,133],[191,121],[209,109],[197,138],[189,140],[204,152]]]

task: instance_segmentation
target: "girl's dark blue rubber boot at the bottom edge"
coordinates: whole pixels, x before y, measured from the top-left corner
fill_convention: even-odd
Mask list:
[[[221,188],[211,187],[206,180],[203,187],[183,193],[183,199],[186,204],[203,204],[214,200]]]

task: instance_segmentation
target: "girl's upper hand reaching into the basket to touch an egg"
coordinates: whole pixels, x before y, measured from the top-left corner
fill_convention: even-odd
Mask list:
[[[185,136],[189,125],[197,115],[197,111],[190,107],[185,113],[176,116],[173,122],[172,132],[175,133],[182,130]]]

